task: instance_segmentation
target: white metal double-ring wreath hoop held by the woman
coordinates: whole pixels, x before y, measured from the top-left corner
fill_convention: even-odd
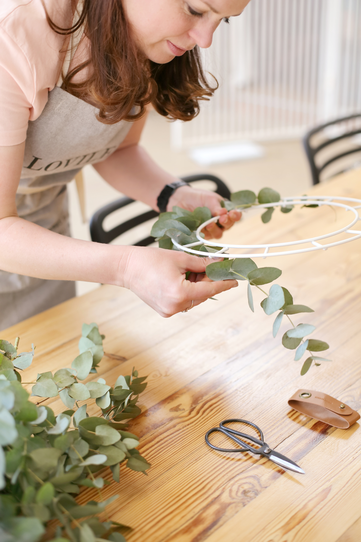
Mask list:
[[[355,205],[355,207],[351,207],[351,205],[347,205],[345,203],[337,203],[334,201],[335,199],[338,201],[343,201],[343,202],[358,203],[359,205]],[[213,242],[213,241],[205,241],[204,238],[200,236],[201,230],[205,228],[206,225],[210,224],[211,222],[218,221],[219,216],[214,216],[210,220],[207,220],[206,222],[201,224],[199,228],[196,230],[195,234],[196,234],[197,239],[199,239],[199,241],[206,246],[222,247],[221,250],[218,250],[211,254],[207,254],[209,258],[214,258],[216,257],[217,254],[224,254],[226,250],[229,250],[230,248],[264,249],[264,252],[258,253],[258,254],[250,254],[250,253],[229,254],[227,253],[227,257],[229,258],[266,258],[268,256],[286,256],[288,254],[300,254],[303,252],[311,252],[312,250],[327,250],[327,248],[336,247],[339,244],[349,243],[350,241],[355,241],[356,239],[359,239],[361,237],[361,230],[350,229],[353,227],[353,225],[356,224],[357,221],[361,220],[361,217],[359,216],[358,211],[357,211],[357,209],[361,208],[361,199],[345,198],[345,197],[339,197],[339,196],[299,196],[299,197],[286,197],[286,198],[282,198],[279,202],[262,203],[258,205],[251,205],[250,207],[268,208],[268,207],[286,207],[287,205],[310,205],[310,204],[317,204],[319,207],[321,207],[322,205],[331,205],[333,207],[340,207],[340,208],[345,209],[346,211],[353,212],[355,216],[352,222],[350,222],[349,224],[347,224],[347,226],[337,231],[332,231],[331,233],[326,234],[326,235],[311,237],[310,239],[302,239],[300,241],[289,241],[286,243],[268,243],[268,244],[229,244],[228,243],[227,244],[227,243],[220,243],[220,242]],[[244,209],[242,209],[242,211],[243,210]],[[333,243],[328,243],[328,244],[318,243],[318,241],[320,241],[321,239],[334,237],[335,235],[338,235],[341,233],[351,234],[352,236],[348,237],[347,239],[335,241]],[[173,241],[173,244],[180,250],[186,251],[190,254],[198,254],[199,256],[206,256],[204,252],[200,250],[192,249],[192,247],[199,245],[199,242],[181,245],[174,240],[172,241]],[[307,244],[307,243],[312,244],[312,246],[306,247],[306,248],[294,248],[293,250],[285,250],[281,252],[270,252],[270,249],[272,248],[290,247],[290,246]]]

